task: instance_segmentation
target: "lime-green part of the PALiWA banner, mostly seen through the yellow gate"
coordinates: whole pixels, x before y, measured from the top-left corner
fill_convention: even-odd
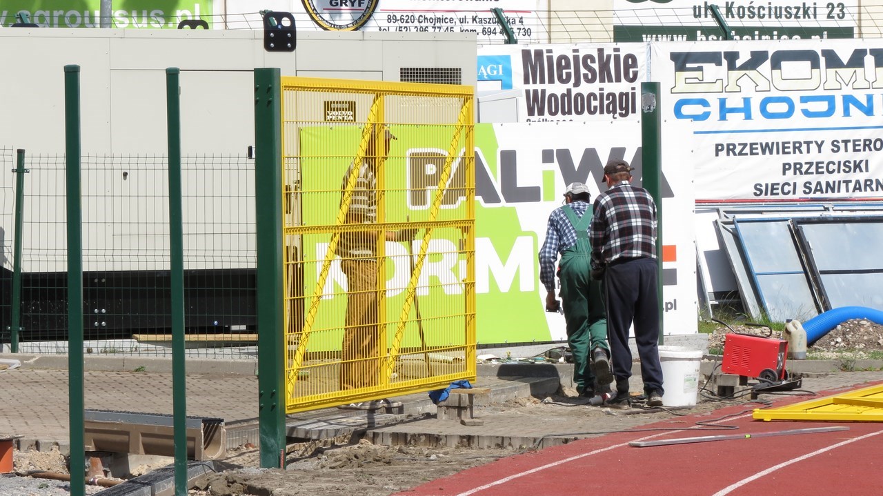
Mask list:
[[[396,140],[391,142],[389,159],[385,165],[386,222],[426,222],[432,187],[437,184],[440,166],[449,136],[432,127],[396,128]],[[300,146],[303,155],[302,180],[305,189],[315,192],[302,197],[302,222],[305,226],[334,225],[339,202],[339,190],[351,157],[346,154],[328,155],[329,143],[358,142],[356,126],[336,126],[334,129],[302,128]],[[419,147],[409,144],[419,144]],[[497,140],[491,124],[475,126],[476,174],[496,181]],[[434,155],[436,154],[437,155]],[[455,164],[457,167],[457,164]],[[478,170],[480,168],[480,171]],[[454,170],[451,186],[462,184],[459,169]],[[436,221],[464,219],[462,197],[450,191],[442,201]],[[476,201],[476,305],[478,342],[541,342],[552,338],[542,300],[536,289],[539,263],[536,258],[537,233],[522,228],[515,207],[485,207]],[[422,236],[422,231],[419,236]],[[436,228],[428,247],[426,263],[420,274],[418,298],[421,318],[426,327],[430,345],[450,344],[456,336],[451,326],[462,325],[457,313],[464,312],[465,255],[460,252],[463,233],[456,228]],[[330,241],[330,234],[308,234],[303,237],[304,292],[307,300],[313,296]],[[419,242],[413,245],[414,252]],[[410,277],[408,244],[386,244],[387,321],[399,318],[404,304],[404,287]],[[527,288],[519,281],[529,280]],[[310,349],[335,349],[343,334],[343,316],[346,309],[344,292],[346,279],[339,268],[331,267],[321,289]],[[512,309],[518,309],[513,312]],[[414,312],[413,307],[411,312]],[[403,346],[418,346],[414,315],[409,318]],[[395,324],[389,324],[391,335]]]

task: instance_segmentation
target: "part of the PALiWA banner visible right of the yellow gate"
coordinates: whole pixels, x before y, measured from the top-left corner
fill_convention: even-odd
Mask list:
[[[585,183],[592,199],[606,190],[600,180],[609,159],[630,162],[635,184],[641,184],[640,124],[479,124],[476,129],[476,227],[479,244],[486,243],[476,251],[479,327],[485,329],[491,319],[484,336],[517,342],[541,339],[540,322],[545,322],[551,339],[564,340],[564,319],[543,311],[546,289],[539,281],[537,254],[548,215],[561,207],[566,184]],[[693,223],[683,222],[693,212],[691,176],[691,169],[676,162],[662,170],[665,334],[696,332],[696,245]],[[529,267],[535,267],[531,274]],[[521,311],[510,312],[513,306]]]

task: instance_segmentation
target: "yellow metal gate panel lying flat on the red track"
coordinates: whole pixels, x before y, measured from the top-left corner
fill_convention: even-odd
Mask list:
[[[883,422],[883,385],[864,387],[841,395],[799,402],[775,409],[754,410],[758,420],[834,420]]]

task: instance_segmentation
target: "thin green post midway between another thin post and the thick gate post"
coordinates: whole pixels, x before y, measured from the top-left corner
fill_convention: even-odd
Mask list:
[[[180,70],[166,69],[166,120],[169,133],[169,256],[171,278],[172,438],[175,496],[187,494],[187,376],[184,353],[184,216],[181,207]]]

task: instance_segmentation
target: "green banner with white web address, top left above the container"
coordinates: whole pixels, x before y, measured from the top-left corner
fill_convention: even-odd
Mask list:
[[[123,0],[113,2],[110,26],[176,29],[179,22],[203,19],[212,27],[212,2],[204,0]],[[19,22],[16,14],[41,27],[101,27],[101,0],[4,0],[0,26]]]

